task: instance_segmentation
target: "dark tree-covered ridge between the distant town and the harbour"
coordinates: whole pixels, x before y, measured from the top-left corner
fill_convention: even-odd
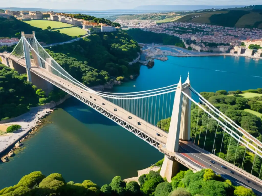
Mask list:
[[[179,37],[170,36],[165,33],[154,33],[151,31],[142,31],[139,28],[127,30],[127,33],[132,36],[138,43],[156,43],[164,45],[175,45],[185,48],[184,43]]]

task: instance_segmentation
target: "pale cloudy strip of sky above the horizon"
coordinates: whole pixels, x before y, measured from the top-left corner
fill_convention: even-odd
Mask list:
[[[1,7],[107,10],[139,5],[258,5],[262,0],[1,0]]]

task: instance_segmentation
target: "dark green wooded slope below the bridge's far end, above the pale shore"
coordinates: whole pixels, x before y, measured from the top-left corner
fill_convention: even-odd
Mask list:
[[[42,89],[27,81],[26,74],[19,74],[0,61],[0,120],[19,116],[42,103],[58,101],[65,95],[62,90],[54,88],[46,96]]]

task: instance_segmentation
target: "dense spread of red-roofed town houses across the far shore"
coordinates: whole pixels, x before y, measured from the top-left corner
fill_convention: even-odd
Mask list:
[[[196,42],[224,43],[231,46],[240,45],[245,40],[262,39],[262,30],[257,28],[236,28],[187,22],[170,22],[157,25],[155,21],[119,20],[121,26],[140,28],[143,31],[166,33],[179,38],[196,40]],[[196,47],[199,50],[199,47]],[[223,50],[221,48],[221,50]]]

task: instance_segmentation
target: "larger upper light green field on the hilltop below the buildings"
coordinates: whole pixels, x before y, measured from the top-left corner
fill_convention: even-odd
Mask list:
[[[46,29],[48,26],[51,26],[51,28],[61,28],[61,27],[73,26],[73,25],[65,24],[63,22],[50,21],[50,20],[30,20],[30,21],[24,21],[24,22],[31,26],[42,28],[42,29]]]

